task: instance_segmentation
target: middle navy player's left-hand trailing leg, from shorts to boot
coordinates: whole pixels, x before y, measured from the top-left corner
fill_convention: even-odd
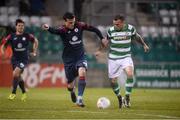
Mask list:
[[[74,66],[64,66],[65,74],[67,78],[67,89],[70,92],[71,100],[73,103],[76,103],[76,94],[75,94],[75,78],[77,76],[77,73],[75,72]]]

